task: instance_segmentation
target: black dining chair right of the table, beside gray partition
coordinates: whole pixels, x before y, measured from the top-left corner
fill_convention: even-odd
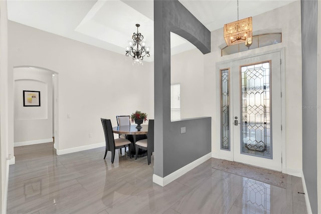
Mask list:
[[[154,151],[154,120],[148,120],[147,139],[139,140],[136,142],[136,158],[138,155],[138,148],[147,150],[147,164],[151,163],[151,155]]]

